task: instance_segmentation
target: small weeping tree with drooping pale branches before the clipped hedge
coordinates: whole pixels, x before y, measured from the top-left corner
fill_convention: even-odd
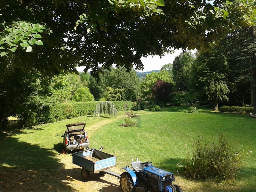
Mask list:
[[[101,101],[95,108],[95,115],[100,116],[100,114],[116,116],[116,106],[110,101]]]

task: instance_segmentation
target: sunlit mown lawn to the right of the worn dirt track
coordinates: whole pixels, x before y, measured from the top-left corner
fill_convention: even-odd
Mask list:
[[[170,109],[173,111],[173,108]],[[176,111],[179,111],[178,108]],[[131,158],[153,161],[156,167],[176,172],[176,164],[186,157],[193,139],[198,136],[207,141],[216,141],[219,134],[239,144],[244,150],[244,168],[233,186],[216,186],[212,183],[181,179],[177,183],[186,191],[255,191],[255,119],[248,115],[223,114],[202,111],[198,114],[184,112],[156,112],[141,115],[140,127],[121,127],[122,119],[104,125],[93,133],[91,142],[99,143],[105,151],[117,156],[117,165],[129,165]],[[175,110],[174,110],[175,111]],[[251,150],[252,154],[247,152]],[[247,153],[247,154],[246,154]]]

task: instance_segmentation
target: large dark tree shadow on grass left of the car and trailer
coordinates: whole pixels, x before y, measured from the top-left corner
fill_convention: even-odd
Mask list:
[[[76,191],[61,181],[66,175],[56,153],[11,137],[0,138],[0,143],[1,191]]]

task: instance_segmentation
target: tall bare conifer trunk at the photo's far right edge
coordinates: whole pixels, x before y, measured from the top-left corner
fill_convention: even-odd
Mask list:
[[[252,27],[253,43],[256,44],[256,26]],[[253,113],[256,113],[256,52],[252,52],[252,96]]]

